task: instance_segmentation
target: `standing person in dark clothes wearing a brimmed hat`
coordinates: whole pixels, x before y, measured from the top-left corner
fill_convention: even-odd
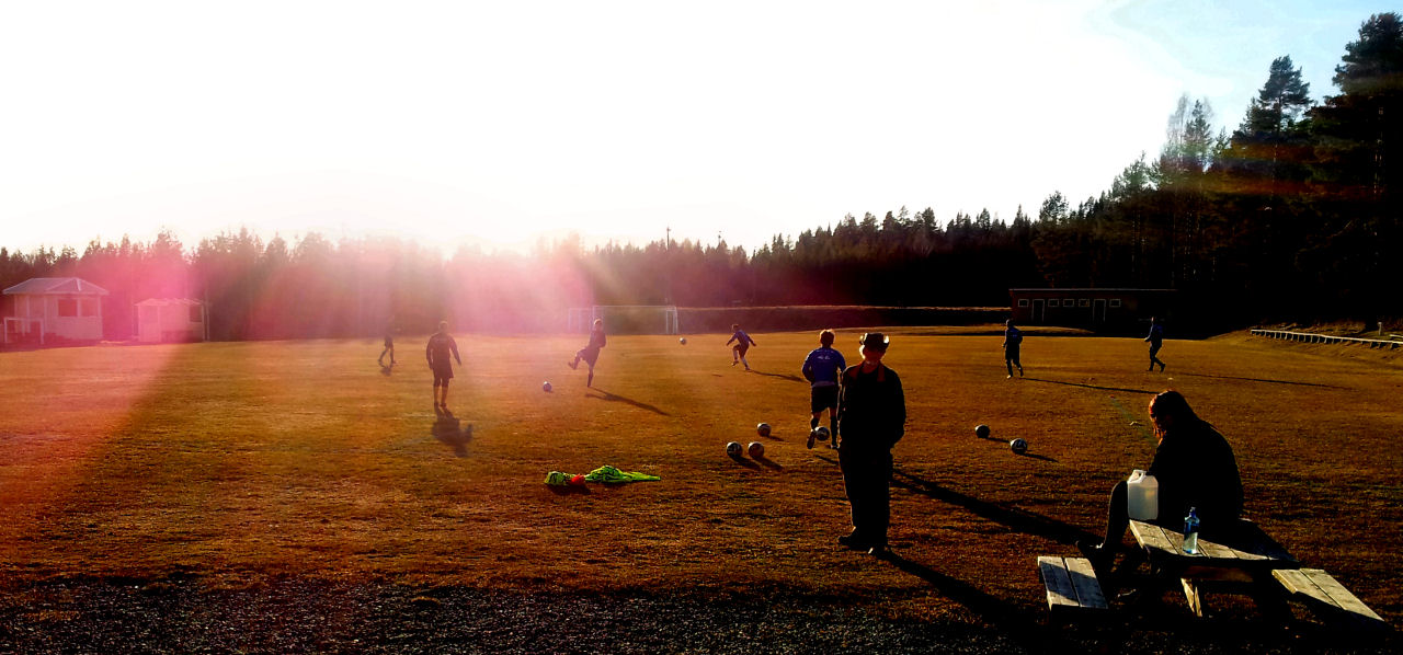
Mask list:
[[[852,508],[853,532],[838,543],[887,557],[891,523],[891,449],[906,432],[906,397],[901,377],[881,363],[890,339],[867,332],[859,352],[863,362],[843,372],[838,393],[838,467]]]

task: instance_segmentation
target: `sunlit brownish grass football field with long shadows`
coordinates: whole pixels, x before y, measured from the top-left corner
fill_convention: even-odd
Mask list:
[[[850,363],[857,334],[839,335]],[[582,337],[460,337],[456,422],[434,414],[421,338],[390,374],[370,341],[0,353],[0,574],[814,593],[998,624],[1045,612],[1034,557],[1103,529],[1110,487],[1153,454],[1145,404],[1179,389],[1233,445],[1249,516],[1403,624],[1403,367],[1386,355],[1225,335],[1170,341],[1149,373],[1138,339],[1033,332],[1027,377],[1006,380],[998,335],[894,330],[894,565],[835,544],[836,454],[804,447],[797,376],[815,335],[755,337],[752,373],[727,335],[610,337],[595,389],[565,366]],[[734,461],[728,440],[767,460]],[[542,484],[602,464],[662,481]]]

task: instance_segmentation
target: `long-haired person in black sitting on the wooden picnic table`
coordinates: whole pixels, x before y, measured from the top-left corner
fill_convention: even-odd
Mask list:
[[[1159,518],[1152,523],[1177,532],[1193,509],[1201,520],[1202,536],[1230,536],[1242,515],[1243,501],[1232,446],[1208,421],[1194,414],[1179,391],[1155,396],[1149,401],[1149,418],[1159,438],[1155,460],[1149,464],[1149,474],[1159,482]],[[1096,568],[1110,568],[1121,550],[1131,520],[1127,489],[1124,480],[1111,488],[1106,539],[1076,544]]]

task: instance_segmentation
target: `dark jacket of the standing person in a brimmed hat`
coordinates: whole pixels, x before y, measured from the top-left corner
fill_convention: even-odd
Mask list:
[[[838,433],[840,450],[885,452],[906,433],[906,396],[901,377],[885,365],[863,373],[863,365],[849,366],[838,391]]]

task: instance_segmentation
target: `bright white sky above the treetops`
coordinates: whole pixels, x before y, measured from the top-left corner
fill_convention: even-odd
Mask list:
[[[1180,94],[1315,98],[1389,3],[14,1],[0,245],[398,234],[525,250],[1012,220],[1152,157]],[[1324,8],[1327,7],[1327,8]]]

